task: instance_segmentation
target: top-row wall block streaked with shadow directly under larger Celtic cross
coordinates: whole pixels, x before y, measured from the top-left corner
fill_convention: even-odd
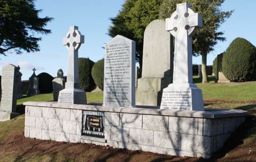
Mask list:
[[[198,133],[198,119],[169,116],[169,132]]]

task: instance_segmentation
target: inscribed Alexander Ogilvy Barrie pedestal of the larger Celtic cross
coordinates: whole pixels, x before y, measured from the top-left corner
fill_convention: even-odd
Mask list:
[[[161,109],[204,111],[202,90],[196,84],[174,83],[164,88]]]

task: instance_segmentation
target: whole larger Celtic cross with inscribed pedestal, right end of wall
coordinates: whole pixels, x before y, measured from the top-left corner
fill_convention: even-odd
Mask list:
[[[166,19],[166,30],[175,37],[173,83],[164,88],[161,109],[204,111],[202,90],[193,84],[192,35],[202,27],[202,15],[194,13],[190,4],[177,4]]]

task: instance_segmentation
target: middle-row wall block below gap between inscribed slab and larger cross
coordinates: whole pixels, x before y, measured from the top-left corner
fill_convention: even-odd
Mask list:
[[[130,128],[130,143],[153,145],[153,131]]]

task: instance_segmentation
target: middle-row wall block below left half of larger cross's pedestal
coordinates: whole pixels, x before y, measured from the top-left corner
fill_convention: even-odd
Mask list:
[[[180,134],[154,131],[154,146],[180,149]]]

